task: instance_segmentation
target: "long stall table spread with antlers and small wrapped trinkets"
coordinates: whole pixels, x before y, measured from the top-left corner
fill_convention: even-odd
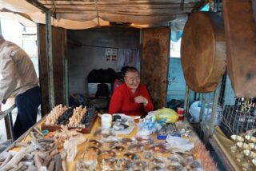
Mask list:
[[[57,107],[61,109],[59,105]],[[65,115],[68,109],[64,110],[64,107],[62,109],[61,113]],[[80,109],[85,108],[80,107]],[[86,113],[85,110],[83,113]],[[188,122],[177,121],[177,116],[175,124],[162,125],[162,129],[166,128],[170,135],[166,140],[161,140],[163,138],[163,135],[160,136],[161,131],[147,136],[142,135],[141,125],[144,124],[143,128],[145,128],[145,124],[152,126],[160,123],[159,120],[152,121],[152,117],[146,117],[135,123],[137,117],[114,115],[118,117],[113,118],[121,119],[118,121],[125,120],[128,125],[122,129],[122,132],[118,132],[120,129],[117,128],[117,121],[114,120],[112,129],[101,129],[101,118],[98,115],[95,115],[96,121],[92,122],[92,129],[87,134],[79,133],[75,129],[68,130],[63,125],[54,132],[41,131],[51,114],[38,121],[0,155],[1,170],[46,168],[59,170],[62,167],[66,168],[63,170],[217,169],[210,153]],[[61,118],[62,114],[58,118]],[[148,116],[153,116],[152,114]],[[170,117],[166,118],[170,119]],[[180,145],[175,144],[175,141],[180,141]]]

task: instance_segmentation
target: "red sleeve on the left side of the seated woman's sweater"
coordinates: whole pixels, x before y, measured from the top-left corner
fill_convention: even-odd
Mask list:
[[[122,108],[122,92],[121,89],[115,89],[111,97],[109,113],[120,113]]]

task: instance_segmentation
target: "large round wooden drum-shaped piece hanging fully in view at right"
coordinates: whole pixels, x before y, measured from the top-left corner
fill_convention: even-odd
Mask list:
[[[226,70],[222,18],[212,12],[190,14],[182,35],[181,60],[190,89],[207,93],[217,88]]]

